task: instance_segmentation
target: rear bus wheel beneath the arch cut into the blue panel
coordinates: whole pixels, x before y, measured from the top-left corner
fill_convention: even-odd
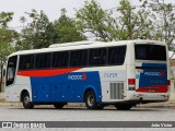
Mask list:
[[[96,96],[93,91],[88,91],[85,93],[84,100],[88,109],[97,109]]]

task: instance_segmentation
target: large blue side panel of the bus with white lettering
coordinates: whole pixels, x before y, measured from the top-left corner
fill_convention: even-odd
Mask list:
[[[56,76],[31,76],[33,102],[83,102],[84,92],[91,88],[102,102],[101,80],[97,71],[71,72]]]

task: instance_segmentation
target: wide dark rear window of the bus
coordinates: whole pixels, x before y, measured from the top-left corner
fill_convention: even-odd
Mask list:
[[[135,45],[135,56],[137,60],[159,60],[166,61],[166,48],[160,45]]]

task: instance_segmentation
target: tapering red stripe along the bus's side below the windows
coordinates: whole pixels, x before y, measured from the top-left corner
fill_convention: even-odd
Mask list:
[[[77,71],[80,69],[82,69],[82,68],[19,71],[18,75],[22,75],[22,76],[54,76],[54,75],[70,73],[70,72],[73,72],[73,71]]]

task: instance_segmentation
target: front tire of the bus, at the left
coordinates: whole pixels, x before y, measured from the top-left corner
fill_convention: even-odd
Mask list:
[[[25,92],[22,95],[22,103],[23,103],[23,107],[25,109],[33,109],[34,108],[34,103],[31,102],[30,94],[27,92]]]

